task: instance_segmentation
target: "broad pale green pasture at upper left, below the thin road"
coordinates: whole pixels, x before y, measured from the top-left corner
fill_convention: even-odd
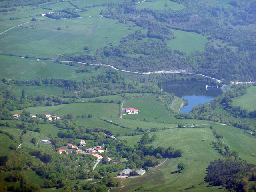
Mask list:
[[[121,38],[138,29],[101,17],[44,20],[24,24],[1,34],[0,51],[2,54],[38,58],[89,53],[101,47],[116,46]],[[84,46],[89,46],[90,50],[85,51]]]

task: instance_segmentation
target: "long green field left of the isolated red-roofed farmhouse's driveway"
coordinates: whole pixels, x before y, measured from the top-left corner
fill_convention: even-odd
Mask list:
[[[58,106],[42,106],[42,107],[28,107],[24,110],[32,114],[55,114],[56,116],[63,116],[65,114],[73,113],[77,115],[92,113],[94,118],[109,118],[118,117],[119,104],[115,103],[71,103]],[[21,114],[23,110],[15,110],[12,113]]]

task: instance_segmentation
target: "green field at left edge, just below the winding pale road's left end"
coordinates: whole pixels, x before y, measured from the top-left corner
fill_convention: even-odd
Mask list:
[[[38,78],[70,79],[80,80],[86,76],[93,76],[101,69],[92,73],[76,73],[76,67],[50,61],[38,62],[34,59],[19,58],[14,56],[0,55],[0,78],[11,78],[17,80],[32,80]],[[28,88],[29,89],[29,88]],[[38,88],[38,91],[40,88]],[[62,89],[63,90],[63,89]]]

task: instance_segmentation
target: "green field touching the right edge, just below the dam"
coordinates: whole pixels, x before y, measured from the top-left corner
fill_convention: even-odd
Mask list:
[[[249,111],[256,110],[256,86],[247,88],[246,94],[233,98],[232,101],[234,106],[241,106],[241,108]]]

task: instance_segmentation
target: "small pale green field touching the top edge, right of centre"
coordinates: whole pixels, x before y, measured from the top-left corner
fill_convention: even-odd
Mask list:
[[[179,4],[168,0],[150,0],[136,4],[137,9],[154,9],[154,10],[182,10],[185,8],[183,4]]]

